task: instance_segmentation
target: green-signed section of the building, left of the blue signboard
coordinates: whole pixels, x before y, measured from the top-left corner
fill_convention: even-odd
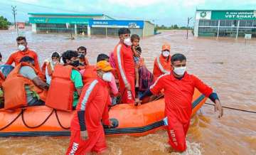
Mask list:
[[[113,19],[105,14],[28,13],[32,31],[36,33],[85,33],[92,19]]]

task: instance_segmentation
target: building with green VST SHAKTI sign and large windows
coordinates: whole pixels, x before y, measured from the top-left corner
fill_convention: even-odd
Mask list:
[[[256,11],[196,10],[194,36],[256,38]]]

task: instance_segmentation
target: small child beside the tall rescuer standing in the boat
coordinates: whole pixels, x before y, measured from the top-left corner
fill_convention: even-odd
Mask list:
[[[139,36],[137,34],[133,34],[131,36],[132,41],[132,52],[134,53],[134,63],[135,63],[135,74],[136,74],[136,84],[135,88],[138,90],[139,88],[139,59],[142,54],[142,48],[139,47]]]

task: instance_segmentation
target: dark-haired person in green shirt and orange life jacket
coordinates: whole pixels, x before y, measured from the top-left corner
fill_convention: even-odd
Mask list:
[[[72,105],[75,109],[83,87],[82,75],[77,69],[78,53],[74,50],[67,50],[63,53],[62,58],[64,65],[55,65],[46,105],[51,105],[50,107],[56,109],[61,106],[69,109]],[[70,92],[73,92],[73,95],[68,95]]]

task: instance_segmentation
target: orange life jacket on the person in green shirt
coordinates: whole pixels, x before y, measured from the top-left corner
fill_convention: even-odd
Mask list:
[[[74,68],[71,65],[55,65],[50,88],[46,98],[46,105],[54,109],[72,111],[74,82],[71,80],[71,73]]]

